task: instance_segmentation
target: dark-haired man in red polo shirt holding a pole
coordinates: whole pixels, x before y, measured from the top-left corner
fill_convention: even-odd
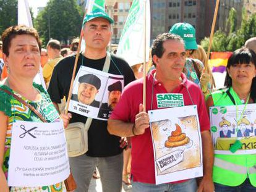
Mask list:
[[[213,191],[213,146],[210,123],[202,91],[187,80],[182,69],[186,62],[184,41],[180,36],[163,33],[152,45],[152,60],[156,70],[147,75],[147,104],[143,112],[143,80],[133,81],[124,89],[121,100],[108,120],[112,135],[130,136],[132,142],[132,191],[197,191],[195,178],[155,185],[153,145],[149,128],[148,110],[160,109],[156,94],[181,93],[184,105],[196,104],[203,146],[203,180],[198,191]],[[170,114],[173,115],[173,114]]]

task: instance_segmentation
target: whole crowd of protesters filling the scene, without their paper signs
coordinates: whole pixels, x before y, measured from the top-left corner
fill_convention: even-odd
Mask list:
[[[245,110],[247,104],[256,102],[256,38],[246,41],[244,48],[233,52],[228,59],[224,87],[214,90],[213,75],[205,64],[208,58],[197,45],[195,28],[189,23],[176,23],[168,33],[158,35],[151,46],[151,59],[145,77],[147,102],[143,106],[142,64],[130,67],[124,59],[108,54],[113,23],[114,20],[101,9],[87,14],[81,32],[86,48],[81,52],[77,52],[79,39],[72,41],[70,48],[63,49],[58,40],[50,40],[46,49],[43,49],[37,31],[24,25],[9,27],[2,33],[0,191],[67,191],[64,181],[49,186],[38,186],[37,183],[35,186],[7,184],[12,130],[17,120],[43,122],[45,128],[46,123],[58,120],[63,121],[64,128],[74,123],[83,123],[82,127],[89,124],[88,151],[69,157],[70,172],[77,184],[77,192],[88,191],[92,178],[100,178],[104,192],[121,191],[123,185],[135,192],[256,191],[256,154],[215,154],[209,119],[211,106],[244,105]],[[113,94],[113,102],[109,99],[109,103],[106,103],[111,111],[108,120],[91,119],[71,111],[65,114],[60,109],[60,104],[65,105],[69,98],[76,57],[75,75],[82,67],[122,75],[124,88],[121,83],[108,86],[109,98]],[[43,86],[33,83],[40,66],[43,68],[47,91]],[[97,102],[100,105],[94,98],[101,87],[98,77],[83,75],[78,81],[81,91],[77,93],[77,102],[84,101],[88,106]],[[114,94],[121,95],[121,98],[114,98]],[[184,106],[197,106],[202,138],[202,178],[196,179],[195,176],[156,185],[148,111],[161,108],[158,106],[157,94],[182,94]],[[28,109],[20,101],[22,99],[43,115],[45,122],[35,111]],[[241,115],[240,119],[236,119],[237,124],[243,122],[243,118]],[[243,130],[241,137],[256,136],[254,127],[252,124],[250,133]],[[96,175],[97,172],[100,176]]]

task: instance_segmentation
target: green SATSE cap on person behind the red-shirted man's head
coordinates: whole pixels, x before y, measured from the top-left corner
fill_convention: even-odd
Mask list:
[[[185,42],[185,49],[197,49],[195,40],[195,28],[189,23],[175,23],[169,33],[181,36]]]

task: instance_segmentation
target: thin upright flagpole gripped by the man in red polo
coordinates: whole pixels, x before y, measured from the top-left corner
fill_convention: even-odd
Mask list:
[[[143,111],[146,111],[146,57],[147,57],[147,0],[144,0],[144,55],[143,55]]]

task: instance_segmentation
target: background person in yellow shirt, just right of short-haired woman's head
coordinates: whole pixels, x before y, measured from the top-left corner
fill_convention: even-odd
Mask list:
[[[62,59],[61,43],[58,40],[49,40],[46,49],[49,61],[43,67],[43,78],[45,79],[46,86],[48,86],[55,65]]]

